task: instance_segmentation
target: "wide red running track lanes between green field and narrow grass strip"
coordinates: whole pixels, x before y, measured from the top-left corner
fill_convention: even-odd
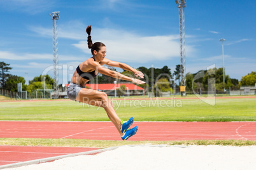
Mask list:
[[[129,140],[256,140],[256,122],[134,122]],[[0,121],[0,138],[121,140],[111,122]]]

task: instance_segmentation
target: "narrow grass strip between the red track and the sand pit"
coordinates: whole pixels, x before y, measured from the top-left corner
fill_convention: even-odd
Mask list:
[[[0,145],[45,147],[94,147],[108,148],[122,145],[231,145],[236,147],[256,145],[245,140],[188,140],[188,141],[106,141],[76,139],[0,138]]]

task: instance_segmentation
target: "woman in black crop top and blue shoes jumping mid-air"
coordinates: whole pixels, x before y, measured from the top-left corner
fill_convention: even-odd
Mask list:
[[[143,78],[144,75],[142,72],[133,69],[129,65],[120,62],[111,61],[106,57],[106,46],[102,42],[92,43],[90,32],[92,30],[91,26],[88,26],[86,32],[88,34],[87,42],[88,48],[91,49],[92,57],[85,60],[85,62],[80,63],[71,78],[71,83],[68,86],[68,97],[71,100],[80,101],[87,103],[89,105],[94,105],[97,107],[103,107],[106,111],[106,114],[110,118],[110,121],[113,122],[115,127],[122,140],[127,140],[138,131],[138,126],[135,126],[132,129],[128,129],[134,119],[131,117],[129,121],[124,122],[119,119],[117,113],[115,112],[111,101],[108,99],[108,95],[102,91],[97,91],[94,89],[84,88],[85,84],[96,77],[98,73],[108,75],[117,79],[122,79],[125,81],[131,81],[135,84],[144,84],[144,81],[139,79],[134,79],[126,75],[120,74],[110,69],[106,69],[103,65],[109,65],[111,67],[119,67],[124,70],[128,70],[134,73],[136,77]]]

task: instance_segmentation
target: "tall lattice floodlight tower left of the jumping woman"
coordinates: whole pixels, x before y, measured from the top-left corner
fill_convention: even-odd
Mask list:
[[[58,12],[52,12],[52,40],[53,40],[53,72],[54,72],[54,92],[55,92],[55,98],[59,97],[59,90],[58,90],[58,81],[59,81],[59,70],[58,70],[58,65],[59,65],[59,57],[58,57],[58,30],[57,30],[57,20],[59,20],[59,11]]]

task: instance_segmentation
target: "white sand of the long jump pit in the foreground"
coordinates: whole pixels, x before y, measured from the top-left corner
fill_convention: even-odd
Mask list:
[[[256,146],[124,146],[13,169],[256,169]]]

